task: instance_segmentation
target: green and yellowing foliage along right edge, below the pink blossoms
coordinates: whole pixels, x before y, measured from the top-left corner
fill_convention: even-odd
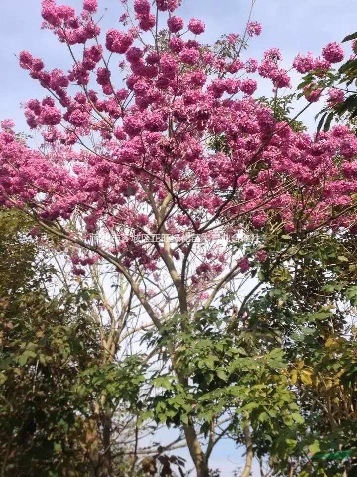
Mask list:
[[[356,447],[356,238],[301,233],[285,245],[282,236],[264,239],[270,257],[262,266],[265,285],[247,304],[246,320],[263,349],[280,343],[287,388],[303,420],[272,442],[255,436],[256,452],[279,476],[292,465],[306,476],[354,472],[353,455],[312,465],[308,453]],[[284,250],[290,258],[272,270]]]

